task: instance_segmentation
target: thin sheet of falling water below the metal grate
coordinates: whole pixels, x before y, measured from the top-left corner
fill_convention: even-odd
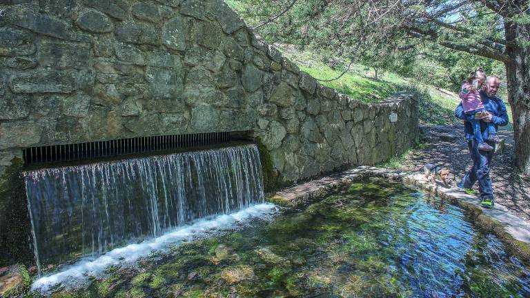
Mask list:
[[[37,265],[97,257],[264,201],[255,145],[23,173]]]

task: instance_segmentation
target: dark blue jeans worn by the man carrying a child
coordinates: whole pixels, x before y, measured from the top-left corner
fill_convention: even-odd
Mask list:
[[[487,143],[492,147],[495,146],[495,143],[489,141]],[[469,147],[469,152],[471,152],[471,159],[473,159],[473,168],[467,172],[458,184],[464,188],[471,188],[478,181],[480,198],[493,199],[493,189],[489,178],[489,165],[491,164],[491,159],[493,159],[493,151],[479,151],[478,143],[475,139],[468,139],[467,146]]]

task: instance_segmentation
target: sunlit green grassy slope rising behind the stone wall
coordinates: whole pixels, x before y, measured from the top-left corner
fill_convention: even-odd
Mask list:
[[[299,51],[291,46],[280,46],[279,49],[282,50],[285,57],[300,66],[300,70],[322,80],[320,81],[322,85],[349,95],[353,99],[377,102],[395,92],[417,91],[422,93],[422,100],[420,101],[420,121],[422,123],[429,125],[457,121],[453,116],[453,110],[458,106],[460,99],[453,92],[417,83],[392,72],[380,73],[375,79],[373,69],[360,64],[353,64],[349,71],[339,79],[326,81],[339,77],[347,66],[344,66],[342,61],[335,59],[338,66],[331,68],[324,63],[320,54]]]

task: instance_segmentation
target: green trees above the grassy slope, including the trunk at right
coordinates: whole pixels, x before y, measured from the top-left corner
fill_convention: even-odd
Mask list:
[[[443,47],[487,60],[467,63],[462,57],[471,56],[442,52],[441,65],[473,70],[485,64],[493,70],[498,66],[493,61],[504,64],[518,168],[530,174],[530,1],[230,1],[269,42],[330,50],[347,59],[374,60],[381,57],[378,53],[394,57],[399,52],[400,61],[413,61],[425,48],[433,54]]]

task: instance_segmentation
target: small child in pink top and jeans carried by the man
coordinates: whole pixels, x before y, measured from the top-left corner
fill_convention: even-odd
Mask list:
[[[478,68],[475,72],[471,72],[460,91],[460,98],[462,99],[462,106],[466,115],[480,115],[484,110],[484,105],[480,99],[480,89],[482,84],[486,81],[486,73],[482,68]],[[488,124],[488,139],[490,141],[498,142],[500,139],[497,137],[497,131],[493,123]],[[493,147],[489,146],[488,143],[482,139],[482,132],[480,131],[480,119],[471,120],[471,126],[473,127],[473,135],[478,143],[478,150],[491,151]]]

